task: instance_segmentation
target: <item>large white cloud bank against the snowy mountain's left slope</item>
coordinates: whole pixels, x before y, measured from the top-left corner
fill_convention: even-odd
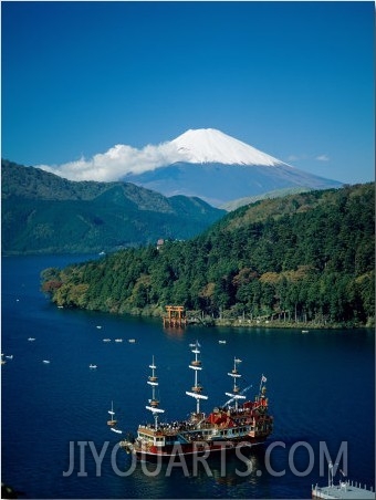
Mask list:
[[[38,165],[38,168],[56,174],[70,180],[118,180],[126,174],[142,174],[164,165],[181,162],[181,152],[170,143],[148,145],[143,149],[117,144],[106,153],[91,159],[81,158],[62,165]]]

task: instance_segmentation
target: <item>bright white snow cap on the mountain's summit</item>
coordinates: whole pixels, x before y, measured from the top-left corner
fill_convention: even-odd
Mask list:
[[[194,164],[281,165],[276,158],[215,128],[189,129],[169,143],[181,159]]]

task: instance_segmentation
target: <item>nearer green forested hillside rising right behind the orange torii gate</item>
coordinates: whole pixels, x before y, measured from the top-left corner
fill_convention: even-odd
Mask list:
[[[43,272],[64,306],[234,321],[365,325],[374,319],[374,184],[263,200],[186,242]]]

